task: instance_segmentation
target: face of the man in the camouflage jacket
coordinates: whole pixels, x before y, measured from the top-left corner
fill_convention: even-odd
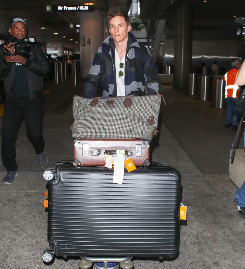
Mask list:
[[[127,26],[123,16],[116,16],[109,21],[109,32],[115,42],[121,42],[128,37],[131,26]]]

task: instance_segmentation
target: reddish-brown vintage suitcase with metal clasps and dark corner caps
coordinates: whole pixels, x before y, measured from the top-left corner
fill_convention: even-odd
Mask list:
[[[73,143],[74,166],[105,165],[106,155],[115,155],[116,150],[125,150],[125,159],[131,158],[136,166],[150,165],[149,140],[141,139],[83,139]]]

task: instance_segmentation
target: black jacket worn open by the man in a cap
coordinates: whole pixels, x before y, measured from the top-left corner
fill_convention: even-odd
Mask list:
[[[38,44],[31,44],[31,56],[26,59],[26,76],[30,99],[42,96],[43,75],[49,70],[47,58]],[[3,44],[0,45],[0,79],[4,78],[6,99],[10,98],[10,89],[14,80],[16,63],[8,63],[3,56]]]

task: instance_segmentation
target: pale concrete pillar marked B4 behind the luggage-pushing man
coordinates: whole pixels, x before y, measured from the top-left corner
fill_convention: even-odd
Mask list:
[[[98,10],[80,12],[80,70],[86,78],[94,56],[103,42],[103,15]]]

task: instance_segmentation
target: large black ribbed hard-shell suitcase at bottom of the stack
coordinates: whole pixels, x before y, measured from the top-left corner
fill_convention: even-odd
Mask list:
[[[60,162],[48,182],[48,242],[56,256],[174,257],[181,175],[153,163],[112,182],[113,169]]]

